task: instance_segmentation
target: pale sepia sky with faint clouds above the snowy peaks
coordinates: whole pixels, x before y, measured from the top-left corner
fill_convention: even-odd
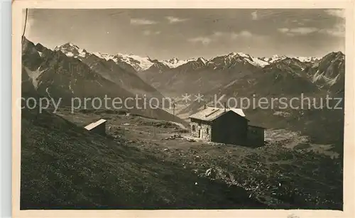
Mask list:
[[[158,60],[321,57],[344,53],[345,18],[341,9],[28,9],[25,36],[50,49],[70,42]]]

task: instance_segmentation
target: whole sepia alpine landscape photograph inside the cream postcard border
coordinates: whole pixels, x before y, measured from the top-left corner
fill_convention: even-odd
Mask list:
[[[343,211],[345,9],[21,23],[21,210]]]

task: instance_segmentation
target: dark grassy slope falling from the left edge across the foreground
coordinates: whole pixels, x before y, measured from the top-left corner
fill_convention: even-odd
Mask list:
[[[90,135],[54,114],[23,110],[21,125],[21,209],[261,206],[239,187]]]

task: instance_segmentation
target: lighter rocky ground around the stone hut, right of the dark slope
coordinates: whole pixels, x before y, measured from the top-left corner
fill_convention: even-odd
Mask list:
[[[130,114],[58,114],[79,126],[108,119],[107,137],[199,177],[244,187],[269,207],[342,209],[342,160],[331,145],[309,143],[300,133],[268,130],[266,146],[248,148],[198,141],[181,125]]]

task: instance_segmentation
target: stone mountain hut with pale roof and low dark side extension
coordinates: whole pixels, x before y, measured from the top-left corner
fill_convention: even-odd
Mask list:
[[[249,125],[242,109],[207,107],[190,119],[191,136],[204,141],[253,146],[264,143],[264,128]]]

